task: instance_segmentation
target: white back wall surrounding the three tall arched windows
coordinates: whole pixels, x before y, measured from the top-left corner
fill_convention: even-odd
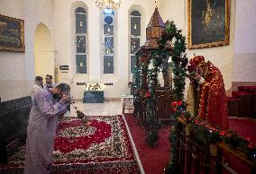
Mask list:
[[[76,74],[75,41],[74,41],[74,9],[79,5],[87,10],[87,34],[88,34],[88,72]],[[103,74],[102,57],[102,23],[101,13],[96,7],[95,1],[83,0],[55,0],[54,1],[54,28],[55,49],[57,64],[69,65],[69,79],[73,79],[71,93],[75,99],[82,99],[85,86],[77,86],[77,82],[114,83],[113,86],[105,86],[105,98],[120,98],[129,93],[129,9],[131,6],[141,6],[144,11],[142,39],[145,39],[145,27],[150,21],[154,11],[154,3],[145,3],[145,0],[123,0],[116,16],[115,32],[115,67],[114,74]],[[142,42],[143,43],[143,42]],[[60,81],[61,82],[61,81]]]

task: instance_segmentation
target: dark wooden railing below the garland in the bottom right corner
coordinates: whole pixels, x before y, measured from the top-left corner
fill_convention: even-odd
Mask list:
[[[237,161],[248,166],[251,174],[256,173],[255,161],[249,160],[243,152],[234,150],[226,144],[202,142],[193,132],[186,123],[178,120],[176,159],[178,174],[238,173],[235,171],[236,166],[232,163],[226,164],[229,158],[236,158]]]

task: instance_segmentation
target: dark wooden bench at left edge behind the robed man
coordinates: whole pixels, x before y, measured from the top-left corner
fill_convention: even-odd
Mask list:
[[[31,97],[0,103],[0,163],[7,163],[7,157],[25,144],[31,108]]]

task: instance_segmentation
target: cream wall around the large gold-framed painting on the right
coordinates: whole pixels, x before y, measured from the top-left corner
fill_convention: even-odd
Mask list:
[[[160,14],[165,21],[172,20],[177,25],[178,29],[187,38],[187,0],[160,0]],[[234,3],[231,2],[231,19],[230,19],[230,44],[227,46],[216,48],[200,48],[200,49],[187,49],[188,59],[192,58],[194,54],[203,55],[206,60],[210,60],[217,66],[223,76],[225,89],[228,90],[232,85],[233,73],[233,33],[234,33]],[[188,85],[188,84],[187,84]]]

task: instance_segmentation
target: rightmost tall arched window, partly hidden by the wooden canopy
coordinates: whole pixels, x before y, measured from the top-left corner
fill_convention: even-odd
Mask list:
[[[137,11],[134,10],[131,14],[130,14],[130,40],[131,40],[131,50],[130,50],[130,73],[133,74],[134,71],[134,67],[136,65],[135,62],[135,53],[136,51],[140,48],[140,43],[141,43],[141,37],[142,37],[142,33],[141,33],[141,28],[142,28],[142,14]]]

